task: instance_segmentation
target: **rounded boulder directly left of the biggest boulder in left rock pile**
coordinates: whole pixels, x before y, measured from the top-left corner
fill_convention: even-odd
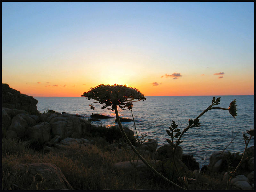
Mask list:
[[[33,141],[38,141],[39,143],[46,143],[49,141],[51,125],[47,122],[41,122],[33,127],[28,128],[29,138]]]

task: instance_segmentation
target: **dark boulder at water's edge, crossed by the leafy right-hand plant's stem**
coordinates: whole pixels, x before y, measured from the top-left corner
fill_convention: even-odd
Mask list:
[[[164,144],[157,149],[158,159],[163,160],[164,158],[172,158],[172,151],[173,149],[169,144]],[[182,148],[180,146],[177,146],[175,156],[180,160],[182,159]]]

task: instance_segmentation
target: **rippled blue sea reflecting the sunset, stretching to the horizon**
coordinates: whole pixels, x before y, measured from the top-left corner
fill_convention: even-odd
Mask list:
[[[190,128],[182,137],[180,144],[183,154],[193,155],[196,161],[208,165],[210,155],[216,151],[222,151],[236,136],[234,141],[227,147],[230,152],[244,151],[242,132],[254,128],[254,95],[215,96],[221,97],[218,107],[228,108],[231,101],[236,99],[237,116],[234,119],[227,110],[213,109],[201,116],[200,127]],[[147,139],[156,139],[158,147],[168,144],[170,139],[166,129],[172,124],[172,120],[178,124],[182,131],[188,125],[189,118],[195,119],[211,103],[213,96],[151,96],[145,101],[133,102],[132,112],[135,118],[136,128],[139,135],[147,134]],[[94,125],[116,125],[115,112],[101,109],[98,103],[93,103],[94,110],[89,104],[95,100],[87,100],[85,97],[38,97],[37,109],[43,113],[52,109],[60,113],[67,112],[89,117],[92,113],[112,116],[112,119],[94,121]],[[131,118],[129,110],[119,110],[119,116]],[[126,126],[134,130],[133,122],[124,122]],[[254,145],[251,140],[249,146]]]

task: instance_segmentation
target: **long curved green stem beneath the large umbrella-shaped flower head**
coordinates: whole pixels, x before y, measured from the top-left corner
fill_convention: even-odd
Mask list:
[[[158,173],[156,171],[156,169],[154,169],[151,165],[148,164],[148,162],[140,155],[140,153],[134,148],[134,146],[132,145],[131,141],[129,140],[129,138],[127,137],[127,135],[125,134],[124,132],[124,128],[121,124],[121,121],[119,119],[119,115],[118,115],[118,111],[117,111],[117,106],[114,107],[115,108],[115,113],[116,113],[116,120],[117,120],[117,123],[119,125],[119,128],[121,130],[121,132],[123,133],[124,135],[124,138],[125,140],[127,141],[127,143],[130,145],[130,147],[132,148],[132,150],[138,155],[138,157],[143,161],[143,163],[145,163],[145,165],[153,172],[155,173],[156,175],[158,175],[159,177],[161,177],[162,179],[164,179],[165,181],[168,181],[170,182],[172,185],[176,186],[177,188],[180,188],[182,190],[186,190],[185,188],[183,187],[180,187],[179,185],[175,184],[174,182],[170,181],[169,179],[167,179],[166,177],[164,177],[162,174]]]

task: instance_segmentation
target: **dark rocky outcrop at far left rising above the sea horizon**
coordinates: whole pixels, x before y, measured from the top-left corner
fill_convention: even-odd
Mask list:
[[[8,84],[2,83],[2,107],[27,111],[29,114],[38,115],[38,101],[32,96],[21,94],[12,89]]]

